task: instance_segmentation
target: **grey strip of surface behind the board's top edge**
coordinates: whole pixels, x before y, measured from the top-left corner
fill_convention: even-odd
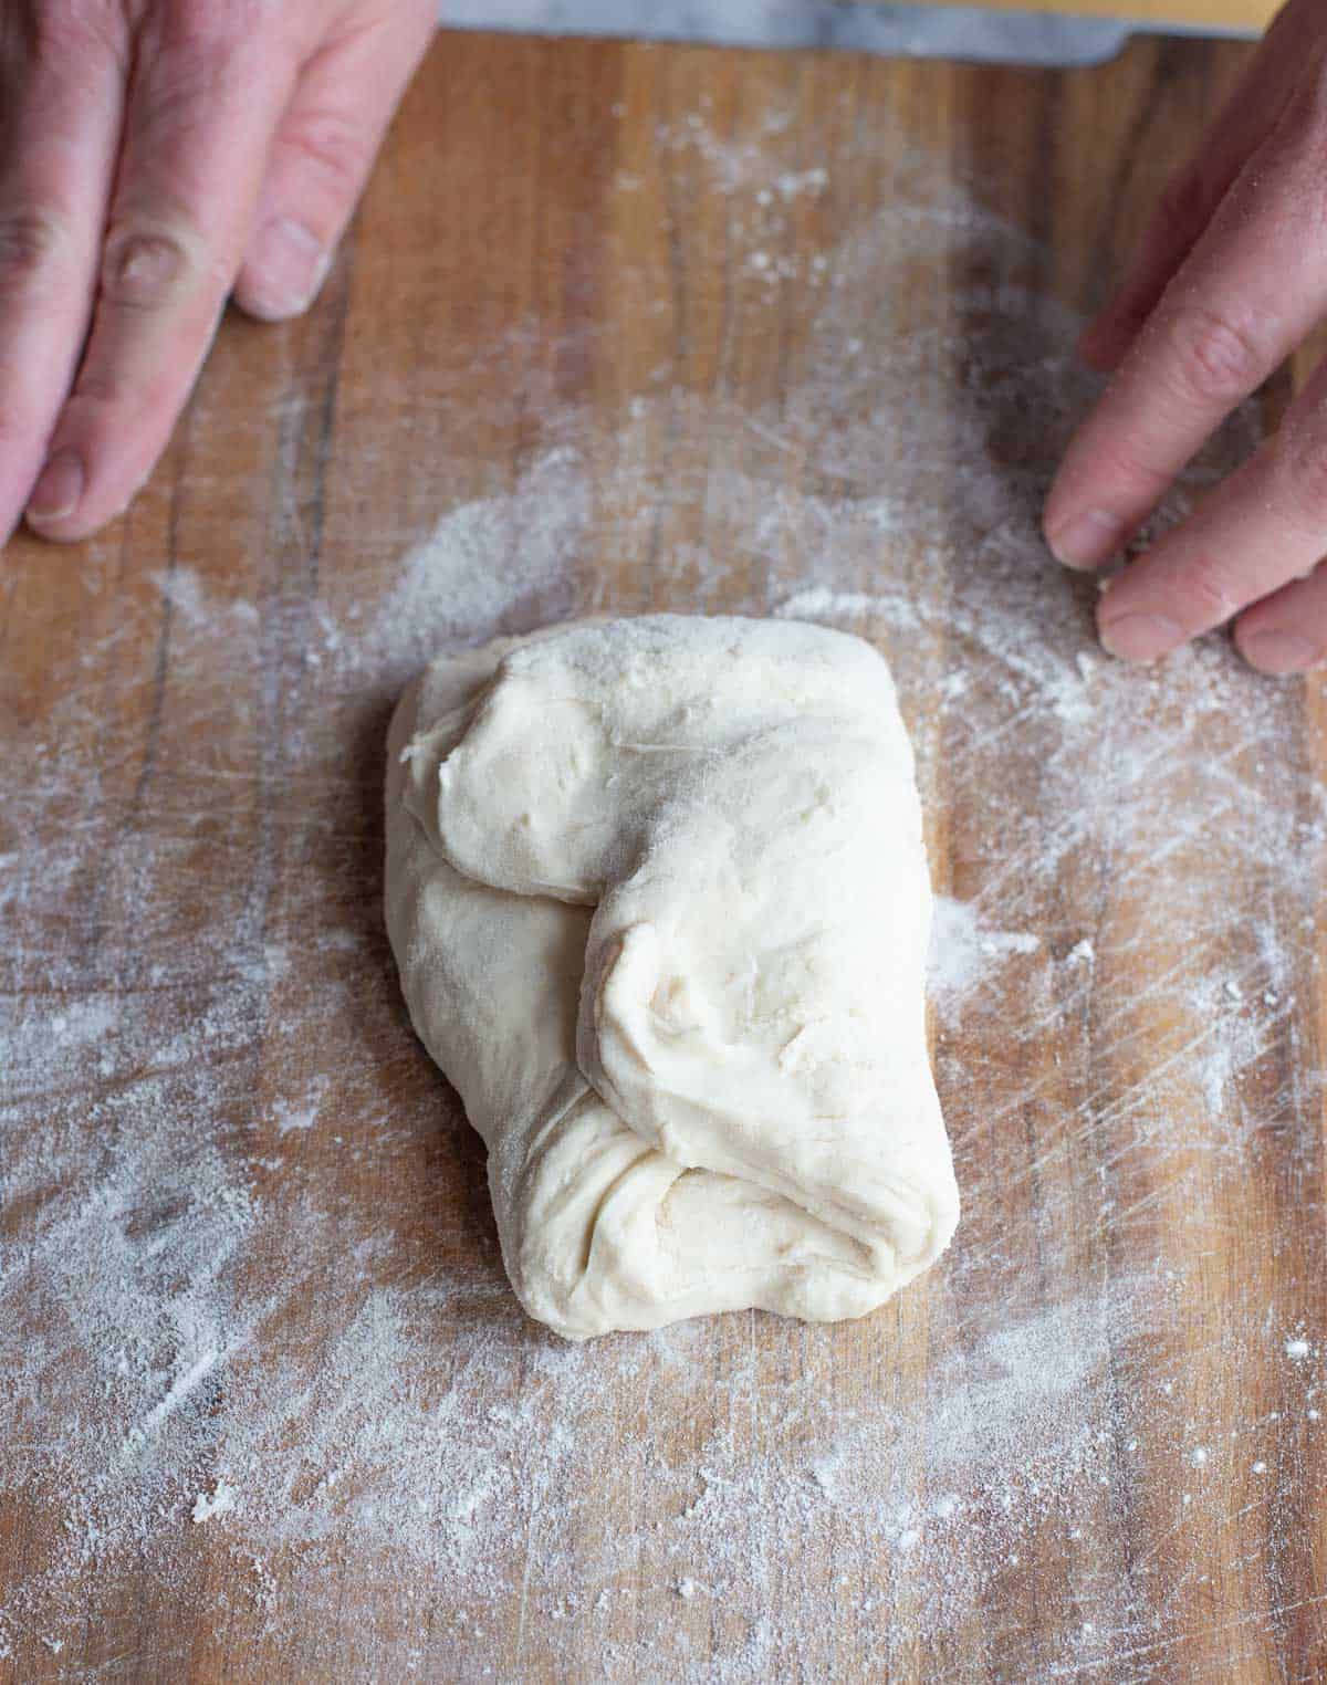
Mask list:
[[[1126,0],[1123,0],[1126,3]],[[610,35],[740,47],[841,47],[890,57],[1098,64],[1145,25],[1042,12],[843,0],[445,0],[450,29]]]

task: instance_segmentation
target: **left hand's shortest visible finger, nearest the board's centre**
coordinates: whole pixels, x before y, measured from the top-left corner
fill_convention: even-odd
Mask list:
[[[398,5],[304,67],[234,288],[250,315],[280,320],[312,303],[433,29],[432,0]]]

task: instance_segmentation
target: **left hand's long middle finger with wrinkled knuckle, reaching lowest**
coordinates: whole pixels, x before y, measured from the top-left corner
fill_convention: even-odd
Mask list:
[[[165,445],[239,265],[293,83],[241,8],[164,7],[140,34],[93,327],[29,499],[29,524],[84,538]]]

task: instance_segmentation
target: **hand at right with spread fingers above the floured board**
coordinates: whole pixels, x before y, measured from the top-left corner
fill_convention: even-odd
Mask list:
[[[1290,0],[1120,295],[1081,342],[1113,371],[1045,504],[1071,568],[1116,554],[1175,475],[1327,315],[1327,7]],[[1153,661],[1238,615],[1254,667],[1327,659],[1327,367],[1280,433],[1106,588],[1101,640]]]

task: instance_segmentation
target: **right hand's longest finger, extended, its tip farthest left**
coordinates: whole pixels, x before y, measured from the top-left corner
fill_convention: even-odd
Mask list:
[[[1327,113],[1300,91],[1170,283],[1066,452],[1045,502],[1050,549],[1106,561],[1204,440],[1312,330],[1324,307],[1319,202]]]

